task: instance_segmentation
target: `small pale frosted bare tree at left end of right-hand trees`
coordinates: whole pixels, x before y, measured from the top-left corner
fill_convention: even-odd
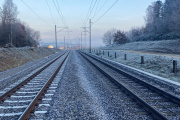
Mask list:
[[[116,32],[116,29],[111,29],[111,30],[108,30],[104,36],[103,36],[103,42],[104,44],[106,45],[112,45],[113,44],[113,41],[114,41],[114,33]]]

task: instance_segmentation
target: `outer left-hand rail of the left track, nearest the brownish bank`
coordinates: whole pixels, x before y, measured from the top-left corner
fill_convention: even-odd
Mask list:
[[[66,53],[66,52],[65,52]],[[41,73],[43,70],[45,70],[48,66],[50,66],[52,63],[54,63],[56,60],[58,60],[61,56],[63,56],[65,53],[61,54],[60,56],[58,56],[57,58],[55,58],[54,60],[52,60],[50,63],[48,63],[47,65],[45,65],[43,68],[41,68],[40,70],[38,70],[37,72],[35,72],[34,74],[32,74],[31,76],[29,76],[28,78],[26,78],[24,81],[20,82],[18,85],[16,85],[15,87],[13,87],[12,89],[8,90],[6,93],[4,93],[2,96],[0,96],[0,102],[3,102],[8,96],[10,96],[11,94],[13,94],[17,89],[19,89],[22,85],[26,84],[28,81],[30,81],[31,79],[33,79],[34,77],[36,77],[39,73]]]

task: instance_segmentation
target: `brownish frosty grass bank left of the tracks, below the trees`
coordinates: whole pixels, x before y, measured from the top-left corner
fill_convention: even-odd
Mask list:
[[[0,48],[0,72],[21,66],[60,51],[48,48]]]

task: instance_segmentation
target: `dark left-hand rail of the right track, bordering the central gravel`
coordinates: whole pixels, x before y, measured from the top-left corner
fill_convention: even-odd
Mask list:
[[[82,52],[80,54],[88,61],[90,62],[96,69],[98,69],[103,75],[105,75],[109,80],[111,80],[115,85],[117,85],[120,89],[125,91],[126,94],[128,94],[132,99],[134,99],[140,106],[142,106],[146,111],[152,114],[153,117],[155,117],[158,120],[168,120],[164,115],[162,115],[159,111],[154,109],[152,106],[150,106],[147,102],[142,100],[140,97],[138,97],[136,94],[133,93],[133,91],[129,90],[127,87],[125,87],[123,84],[118,82],[116,79],[114,79],[111,75],[106,73],[102,68],[94,64],[91,60],[89,60]],[[91,57],[92,58],[92,57]]]

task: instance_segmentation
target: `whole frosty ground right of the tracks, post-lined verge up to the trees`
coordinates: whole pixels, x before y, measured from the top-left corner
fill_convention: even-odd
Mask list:
[[[141,69],[143,71],[180,82],[180,40],[146,41],[127,43],[119,46],[106,46],[101,48],[101,53],[94,52],[101,57]],[[103,49],[103,50],[102,50]],[[108,51],[110,57],[108,57]],[[114,53],[117,52],[117,58]],[[124,60],[127,54],[127,60]],[[141,56],[144,56],[145,64],[141,64]],[[173,60],[178,62],[178,72],[173,73]]]

